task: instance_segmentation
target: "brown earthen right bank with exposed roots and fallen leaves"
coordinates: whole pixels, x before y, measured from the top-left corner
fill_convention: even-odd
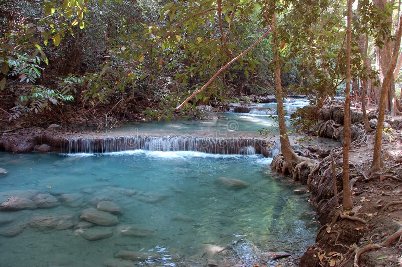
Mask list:
[[[3,128],[0,137],[9,137],[13,132],[11,129]],[[20,127],[14,133],[30,130]],[[68,133],[71,134],[74,133]],[[384,167],[371,173],[374,135],[375,132],[364,135],[355,142],[349,154],[354,208],[342,210],[342,192],[338,194],[338,206],[334,197],[316,201],[315,196],[311,196],[310,202],[317,204],[317,218],[321,224],[315,244],[301,258],[294,255],[272,261],[260,257],[258,261],[249,262],[251,266],[402,265],[402,131],[394,130],[383,135]],[[342,162],[342,157],[338,158],[339,161]],[[337,173],[341,170],[338,165]],[[284,179],[290,181],[291,178]],[[337,179],[340,183],[338,175]],[[322,184],[326,182],[322,181]],[[245,262],[241,258],[232,258],[217,264],[244,266]]]

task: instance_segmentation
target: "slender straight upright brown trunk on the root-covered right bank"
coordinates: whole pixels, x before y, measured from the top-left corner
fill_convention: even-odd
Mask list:
[[[353,208],[353,201],[350,196],[349,186],[349,147],[350,147],[350,39],[352,32],[352,2],[348,1],[348,16],[347,16],[347,31],[346,31],[346,92],[345,92],[345,117],[343,121],[343,172],[342,172],[342,186],[343,186],[343,209]]]

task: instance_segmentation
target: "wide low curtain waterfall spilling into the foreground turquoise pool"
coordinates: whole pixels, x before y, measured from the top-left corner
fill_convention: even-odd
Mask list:
[[[211,154],[266,154],[273,141],[258,138],[211,138],[198,136],[121,136],[104,138],[57,138],[42,136],[38,143],[49,144],[62,153],[107,153],[125,150],[199,151]]]

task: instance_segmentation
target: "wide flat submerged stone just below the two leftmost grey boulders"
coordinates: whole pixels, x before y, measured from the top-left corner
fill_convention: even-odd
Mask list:
[[[66,230],[74,227],[74,217],[71,215],[59,217],[33,216],[29,221],[29,226],[40,230]]]

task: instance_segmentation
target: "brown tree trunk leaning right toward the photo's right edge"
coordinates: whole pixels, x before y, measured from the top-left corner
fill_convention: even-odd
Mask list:
[[[373,163],[371,165],[371,171],[378,171],[382,167],[381,140],[382,140],[382,130],[384,128],[386,96],[388,93],[388,86],[393,81],[393,72],[395,70],[399,54],[400,38],[402,37],[401,20],[402,18],[399,18],[399,24],[395,35],[395,41],[394,41],[395,44],[393,47],[392,58],[389,62],[389,67],[382,82],[381,98],[378,105],[378,125],[375,131],[375,143],[374,143]]]

